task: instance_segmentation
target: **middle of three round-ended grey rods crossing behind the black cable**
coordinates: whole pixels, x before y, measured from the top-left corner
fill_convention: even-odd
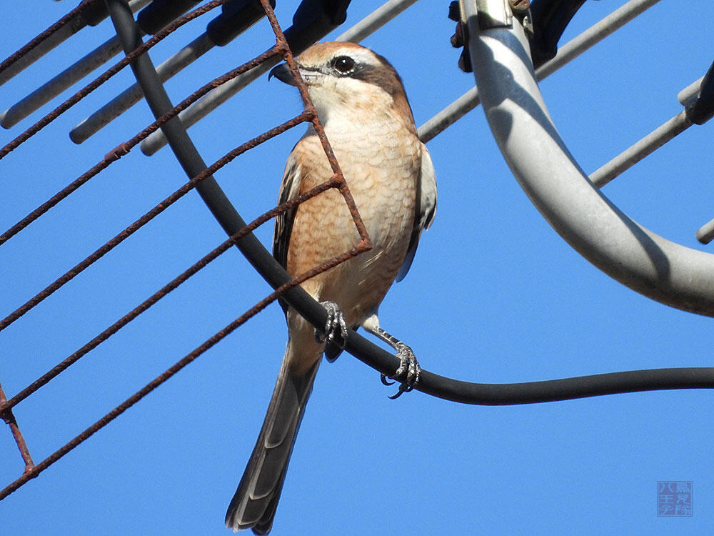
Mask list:
[[[203,54],[206,54],[213,46],[215,46],[215,44],[211,41],[208,34],[201,34],[191,41],[191,43],[184,46],[183,49],[156,67],[156,72],[159,73],[159,79],[161,79],[162,82],[170,79],[171,76],[177,74],[181,69],[185,69],[193,61],[196,61],[196,59],[203,56]],[[121,44],[119,48],[121,49]],[[114,119],[131,108],[131,106],[134,106],[143,96],[144,93],[141,91],[139,84],[133,84],[122,91],[121,94],[114,97],[114,99],[111,99],[111,101],[106,103],[99,110],[95,111],[94,114],[91,114],[91,116],[75,126],[74,129],[69,132],[69,138],[74,143],[81,144],[104,128],[104,126],[111,123],[111,121],[114,121]]]

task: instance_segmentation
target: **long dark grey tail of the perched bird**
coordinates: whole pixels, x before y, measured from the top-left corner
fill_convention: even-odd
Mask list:
[[[291,367],[296,357],[291,355],[292,348],[288,342],[261,433],[228,505],[226,527],[233,531],[252,527],[256,534],[267,534],[273,526],[295,437],[320,364],[317,359],[296,374]]]

